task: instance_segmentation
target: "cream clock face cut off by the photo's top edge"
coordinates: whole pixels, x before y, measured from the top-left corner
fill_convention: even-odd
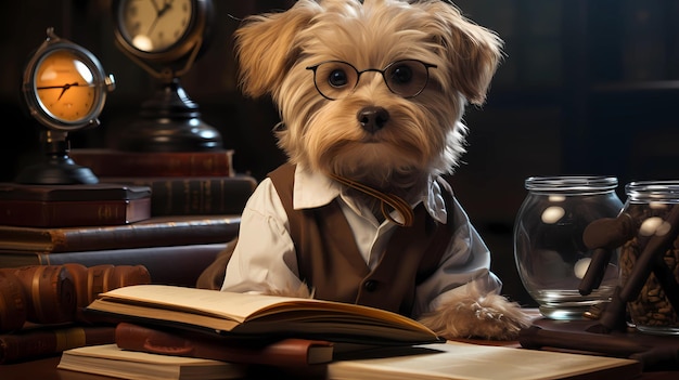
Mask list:
[[[191,27],[193,0],[123,0],[119,27],[128,43],[142,52],[170,49]]]

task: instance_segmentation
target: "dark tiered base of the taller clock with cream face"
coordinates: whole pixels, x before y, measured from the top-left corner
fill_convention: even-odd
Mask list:
[[[127,152],[204,152],[221,149],[221,135],[201,120],[179,80],[164,83],[142,105],[140,120],[115,139],[114,147]]]

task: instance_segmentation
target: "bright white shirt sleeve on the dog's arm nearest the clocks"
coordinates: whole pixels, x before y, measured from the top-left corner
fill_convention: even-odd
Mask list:
[[[262,180],[241,214],[239,240],[221,290],[267,292],[297,289],[297,258],[285,209],[270,179]]]

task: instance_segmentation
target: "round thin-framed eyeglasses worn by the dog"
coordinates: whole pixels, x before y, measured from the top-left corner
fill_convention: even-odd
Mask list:
[[[344,61],[326,61],[307,67],[313,71],[313,84],[318,92],[330,101],[347,96],[358,86],[361,74],[375,71],[382,74],[386,87],[402,97],[418,96],[430,80],[430,67],[418,60],[402,60],[388,64],[384,69],[367,68],[359,71]]]

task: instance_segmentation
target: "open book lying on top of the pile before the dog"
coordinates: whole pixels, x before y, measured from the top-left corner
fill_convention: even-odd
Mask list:
[[[380,309],[167,285],[136,285],[100,293],[87,309],[121,320],[238,338],[282,336],[370,344],[441,341],[424,325]]]

